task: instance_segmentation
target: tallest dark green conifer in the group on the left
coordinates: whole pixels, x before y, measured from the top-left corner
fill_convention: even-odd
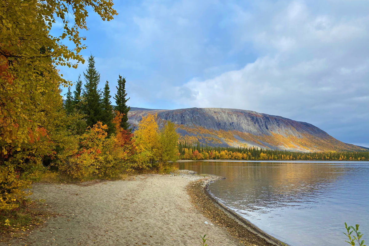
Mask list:
[[[85,76],[85,89],[83,90],[83,100],[85,101],[82,105],[82,112],[86,115],[87,126],[92,127],[97,121],[101,121],[101,105],[100,98],[101,92],[97,89],[97,85],[100,82],[100,73],[95,68],[94,56],[90,55],[88,59],[89,66],[86,72],[83,73]]]

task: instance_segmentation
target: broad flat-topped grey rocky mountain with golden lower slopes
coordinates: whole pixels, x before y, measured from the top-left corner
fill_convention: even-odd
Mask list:
[[[209,146],[257,146],[261,148],[324,151],[361,150],[343,143],[306,122],[275,115],[229,108],[184,108],[151,110],[131,108],[128,122],[137,128],[142,116],[158,114],[159,126],[165,121],[177,125],[177,132],[187,143]]]

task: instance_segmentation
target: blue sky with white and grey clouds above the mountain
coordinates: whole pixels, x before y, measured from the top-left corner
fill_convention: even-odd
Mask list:
[[[114,8],[109,22],[90,11],[82,55],[95,56],[111,96],[126,77],[131,107],[253,110],[369,147],[368,0],[115,0]],[[59,69],[75,82],[86,66]]]

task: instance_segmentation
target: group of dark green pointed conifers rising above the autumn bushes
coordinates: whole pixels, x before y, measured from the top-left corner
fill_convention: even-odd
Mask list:
[[[79,75],[76,83],[75,90],[70,90],[66,93],[66,100],[64,108],[68,116],[80,119],[75,122],[73,126],[75,134],[83,133],[86,127],[93,127],[97,122],[101,122],[107,126],[108,136],[114,134],[116,127],[113,124],[115,112],[120,112],[121,122],[120,127],[124,130],[130,131],[128,124],[128,111],[130,107],[127,106],[127,101],[130,98],[127,97],[125,91],[125,78],[118,75],[117,80],[117,93],[114,96],[116,106],[113,109],[111,104],[110,86],[109,82],[106,81],[103,91],[98,89],[100,84],[100,73],[96,70],[94,56],[90,55],[88,58],[88,67],[83,73],[84,81],[83,84],[81,76]]]

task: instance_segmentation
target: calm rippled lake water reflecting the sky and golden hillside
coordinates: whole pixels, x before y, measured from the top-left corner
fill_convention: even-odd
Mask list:
[[[369,242],[369,162],[181,162],[226,177],[210,184],[228,208],[291,246],[348,245],[344,222]],[[211,237],[211,235],[209,235]]]

